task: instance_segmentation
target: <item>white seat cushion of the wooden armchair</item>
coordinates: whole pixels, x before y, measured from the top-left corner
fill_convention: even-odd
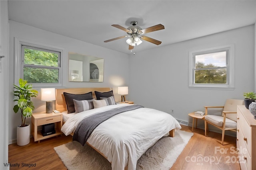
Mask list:
[[[207,121],[209,121],[210,123],[212,123],[212,124],[214,124],[218,127],[223,126],[223,117],[222,116],[206,115],[204,117],[204,119],[206,119]],[[225,127],[236,128],[236,121],[233,121],[233,120],[230,120],[230,119],[226,118]]]

